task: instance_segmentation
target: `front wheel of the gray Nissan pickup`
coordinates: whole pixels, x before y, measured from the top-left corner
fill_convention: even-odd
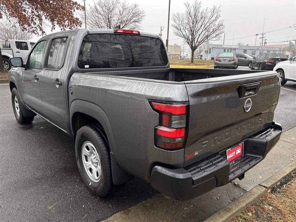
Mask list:
[[[20,101],[20,94],[18,93],[17,89],[13,88],[11,91],[11,102],[15,119],[21,124],[31,123],[35,116],[24,117],[22,112],[22,103]]]

